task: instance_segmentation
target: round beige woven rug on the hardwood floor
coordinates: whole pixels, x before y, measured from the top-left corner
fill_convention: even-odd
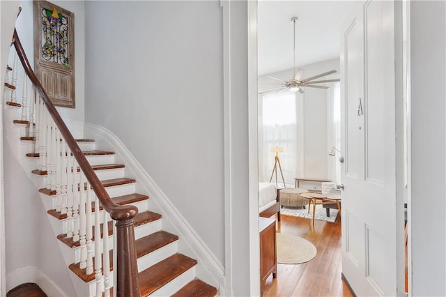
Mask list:
[[[299,236],[276,234],[277,263],[300,264],[316,257],[316,247],[313,243]]]

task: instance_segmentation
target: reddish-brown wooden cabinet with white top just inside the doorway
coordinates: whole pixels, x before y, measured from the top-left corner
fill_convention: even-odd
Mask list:
[[[276,257],[276,220],[259,218],[260,232],[260,288],[263,294],[263,286],[266,279],[272,273],[272,277],[277,277],[277,257]]]

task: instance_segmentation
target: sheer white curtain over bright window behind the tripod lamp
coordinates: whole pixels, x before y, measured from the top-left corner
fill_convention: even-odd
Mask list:
[[[294,185],[298,168],[296,93],[266,93],[259,96],[259,181],[276,181],[275,153],[271,148],[284,149],[279,153],[280,165],[287,186]],[[282,175],[277,165],[277,181],[283,187]]]

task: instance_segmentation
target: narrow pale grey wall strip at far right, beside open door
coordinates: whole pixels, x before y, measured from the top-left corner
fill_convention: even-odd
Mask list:
[[[410,1],[413,296],[446,295],[446,2]]]

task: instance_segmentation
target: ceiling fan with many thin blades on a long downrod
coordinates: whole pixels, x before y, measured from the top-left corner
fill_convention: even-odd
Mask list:
[[[326,82],[339,82],[339,78],[338,79],[324,79],[324,80],[314,80],[314,79],[318,79],[319,77],[324,77],[327,75],[330,75],[332,73],[336,73],[336,70],[330,70],[327,71],[326,73],[321,73],[319,75],[314,75],[312,77],[308,77],[306,79],[300,79],[300,77],[302,77],[302,74],[304,73],[303,69],[298,69],[297,73],[296,73],[296,69],[295,69],[295,22],[298,21],[298,17],[292,17],[291,18],[291,22],[293,23],[294,26],[294,30],[293,30],[293,78],[290,80],[284,80],[284,79],[279,79],[277,77],[272,77],[272,76],[266,76],[266,77],[270,77],[271,79],[275,79],[275,80],[279,80],[282,83],[276,83],[281,85],[282,87],[280,89],[277,89],[275,91],[285,91],[285,90],[289,90],[289,91],[299,91],[299,93],[305,93],[304,90],[302,89],[302,87],[309,87],[309,88],[317,88],[317,89],[328,89],[328,86],[318,86],[316,84],[325,84]]]

